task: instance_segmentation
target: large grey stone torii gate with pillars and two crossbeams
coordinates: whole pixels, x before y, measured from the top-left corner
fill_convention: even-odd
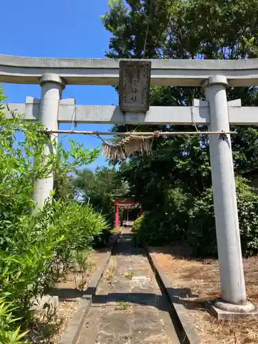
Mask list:
[[[142,61],[142,60],[141,60]],[[109,123],[134,125],[208,125],[229,132],[229,125],[257,125],[258,109],[227,101],[226,87],[258,85],[258,60],[152,60],[151,85],[202,86],[206,101],[192,107],[150,107],[146,114],[122,112],[119,107],[75,105],[61,100],[66,85],[118,85],[119,60],[84,58],[26,58],[0,55],[0,82],[41,85],[41,99],[27,97],[25,104],[9,104],[26,120],[39,120],[50,131],[58,123]],[[6,111],[6,116],[10,116]],[[210,136],[211,175],[217,232],[222,299],[214,309],[220,318],[250,313],[246,300],[241,256],[237,197],[230,136]],[[165,173],[165,171],[164,171]],[[34,201],[41,206],[53,188],[53,176],[39,182]]]

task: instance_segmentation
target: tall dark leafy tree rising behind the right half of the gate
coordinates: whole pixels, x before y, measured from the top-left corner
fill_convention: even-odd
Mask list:
[[[109,11],[102,20],[112,34],[106,54],[109,58],[187,60],[258,56],[258,0],[117,0],[110,1]],[[203,90],[199,87],[151,87],[151,105],[185,106],[191,105],[193,98],[204,98]],[[257,106],[257,87],[228,87],[228,100],[237,98],[241,98],[244,106]],[[142,131],[143,128],[119,125],[114,131]],[[196,130],[191,126],[175,125],[148,129]],[[197,126],[197,129],[206,127]],[[258,131],[257,127],[237,127],[237,131],[239,134],[232,137],[233,158],[235,172],[243,175],[258,167]],[[131,193],[136,195],[144,210],[151,211],[152,220],[155,217],[157,223],[164,223],[164,215],[171,211],[179,222],[179,214],[171,209],[174,204],[171,190],[180,188],[186,200],[184,204],[191,209],[195,197],[202,199],[206,189],[211,188],[208,138],[155,139],[153,154],[131,157],[130,164],[120,171],[120,178],[129,183]],[[213,209],[207,221],[210,222],[211,217]],[[164,232],[159,231],[160,235],[168,228],[175,229],[172,223],[170,217]],[[183,232],[187,228],[185,224]]]

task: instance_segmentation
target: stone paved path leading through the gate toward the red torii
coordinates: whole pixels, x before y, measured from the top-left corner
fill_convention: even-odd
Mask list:
[[[147,257],[125,229],[77,344],[179,344]]]

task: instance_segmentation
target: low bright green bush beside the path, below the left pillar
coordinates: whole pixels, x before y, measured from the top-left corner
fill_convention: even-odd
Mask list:
[[[8,249],[0,252],[0,294],[30,316],[30,299],[52,288],[74,255],[90,248],[107,228],[103,217],[77,202],[46,204],[34,217],[10,224]]]

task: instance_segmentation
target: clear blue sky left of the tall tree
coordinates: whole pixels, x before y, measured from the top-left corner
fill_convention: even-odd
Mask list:
[[[105,57],[110,34],[100,15],[108,10],[107,0],[3,0],[1,1],[1,54],[34,57]],[[3,84],[9,103],[23,103],[25,96],[40,98],[39,85]],[[77,105],[117,105],[118,96],[111,86],[67,86],[63,98],[76,98]],[[71,129],[62,124],[60,129]],[[110,125],[78,125],[78,130],[107,131]],[[100,140],[72,136],[85,148],[98,147]],[[65,149],[68,137],[62,138]],[[90,165],[106,165],[101,157]]]

